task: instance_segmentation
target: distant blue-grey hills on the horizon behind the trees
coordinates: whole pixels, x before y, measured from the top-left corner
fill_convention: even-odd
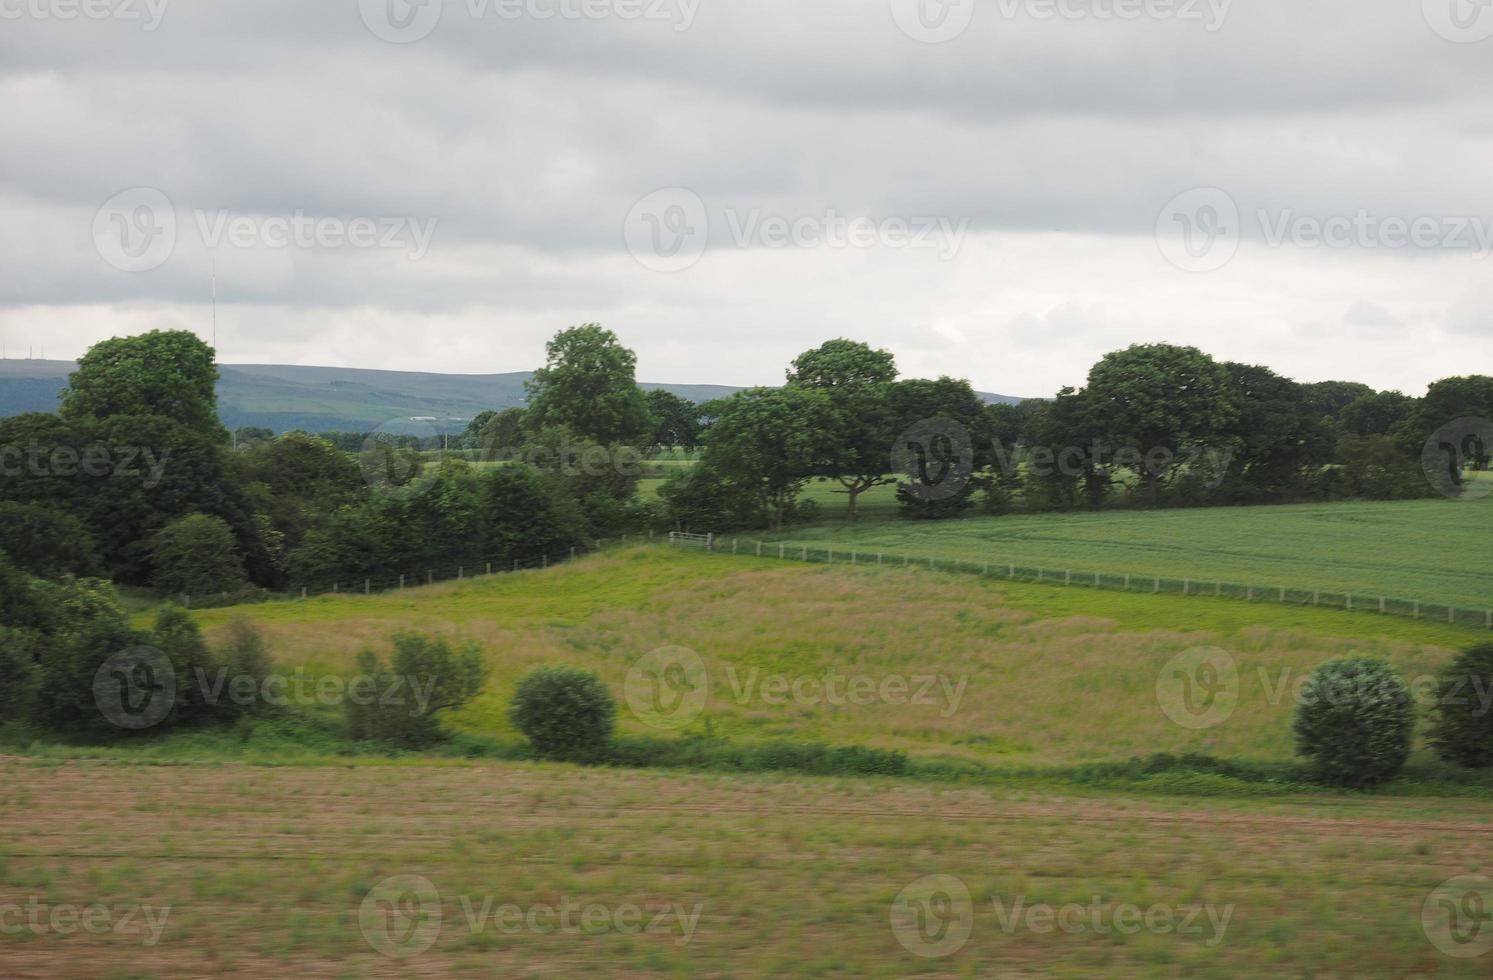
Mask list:
[[[58,393],[78,365],[70,360],[0,360],[0,417],[57,411]],[[275,432],[367,432],[390,420],[433,417],[463,429],[481,411],[524,403],[532,372],[437,375],[415,370],[306,368],[300,365],[219,365],[218,414],[228,429]],[[655,384],[691,402],[741,388],[724,384]],[[979,393],[985,402],[1021,399]]]

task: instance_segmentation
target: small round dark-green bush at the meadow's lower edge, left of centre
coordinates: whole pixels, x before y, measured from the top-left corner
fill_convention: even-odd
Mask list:
[[[578,757],[612,738],[617,702],[596,674],[545,666],[518,681],[508,717],[542,754]]]

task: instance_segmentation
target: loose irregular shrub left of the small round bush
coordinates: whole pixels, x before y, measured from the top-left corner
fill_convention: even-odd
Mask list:
[[[452,648],[440,638],[396,633],[391,666],[372,650],[358,654],[358,677],[343,702],[348,735],[427,745],[442,738],[436,713],[470,702],[485,684],[475,642]]]

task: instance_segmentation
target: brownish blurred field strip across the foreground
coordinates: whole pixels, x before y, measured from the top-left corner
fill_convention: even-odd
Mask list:
[[[1486,976],[1423,926],[1468,801],[0,759],[0,817],[16,980]]]

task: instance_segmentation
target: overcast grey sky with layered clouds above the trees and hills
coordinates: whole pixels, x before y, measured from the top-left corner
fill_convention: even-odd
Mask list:
[[[0,339],[1082,384],[1490,372],[1478,0],[0,0]]]

